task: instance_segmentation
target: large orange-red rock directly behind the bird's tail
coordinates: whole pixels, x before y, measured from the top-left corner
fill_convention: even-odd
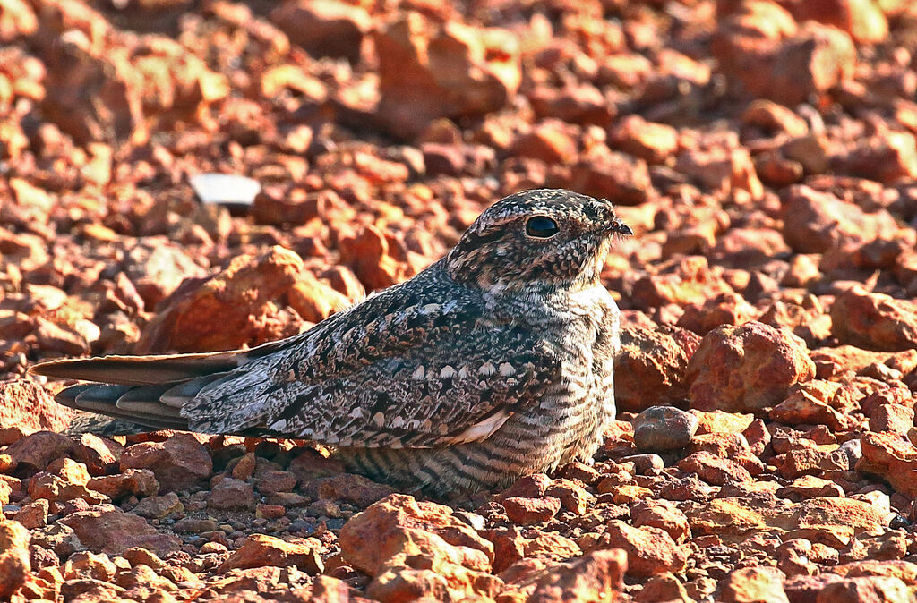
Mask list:
[[[272,247],[257,257],[233,259],[204,283],[185,282],[163,302],[135,351],[230,350],[294,334],[271,325],[277,318],[273,301],[293,285],[302,266],[293,251]]]

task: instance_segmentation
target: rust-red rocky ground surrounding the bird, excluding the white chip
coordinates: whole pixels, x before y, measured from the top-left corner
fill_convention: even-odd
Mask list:
[[[915,52],[909,0],[0,0],[0,599],[914,600]],[[447,506],[26,375],[295,334],[541,186],[635,230],[591,466]]]

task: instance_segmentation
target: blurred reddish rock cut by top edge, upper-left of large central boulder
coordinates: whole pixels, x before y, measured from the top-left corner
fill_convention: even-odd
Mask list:
[[[337,0],[284,2],[271,11],[271,21],[316,57],[341,57],[357,62],[360,44],[372,25],[359,5]]]

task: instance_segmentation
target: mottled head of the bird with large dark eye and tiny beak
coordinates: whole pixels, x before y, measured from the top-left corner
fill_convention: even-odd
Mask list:
[[[598,282],[614,237],[632,234],[608,201],[563,189],[517,192],[470,225],[446,269],[492,291],[587,286]]]

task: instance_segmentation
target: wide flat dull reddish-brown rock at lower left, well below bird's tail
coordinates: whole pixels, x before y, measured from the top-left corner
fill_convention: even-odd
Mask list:
[[[157,533],[142,518],[111,505],[95,505],[89,510],[71,513],[60,522],[72,528],[80,542],[94,551],[120,554],[141,546],[164,555],[177,551],[181,544],[175,536]]]

